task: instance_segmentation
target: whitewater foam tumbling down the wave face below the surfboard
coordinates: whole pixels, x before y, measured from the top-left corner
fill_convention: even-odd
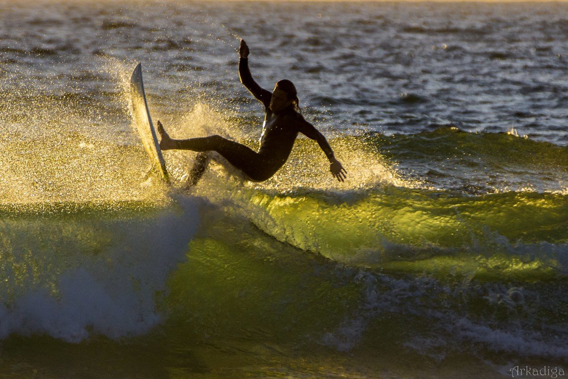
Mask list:
[[[45,276],[55,276],[53,281],[36,278],[4,289],[16,294],[0,305],[0,338],[47,334],[77,342],[92,334],[112,339],[144,334],[162,319],[160,294],[170,271],[185,259],[197,224],[197,203],[179,198],[177,206],[150,218],[111,224],[114,232],[102,251],[64,251],[65,244],[54,237],[48,246],[52,261],[61,262],[56,256],[63,254],[68,266],[45,267]],[[49,235],[45,243],[49,245]]]

